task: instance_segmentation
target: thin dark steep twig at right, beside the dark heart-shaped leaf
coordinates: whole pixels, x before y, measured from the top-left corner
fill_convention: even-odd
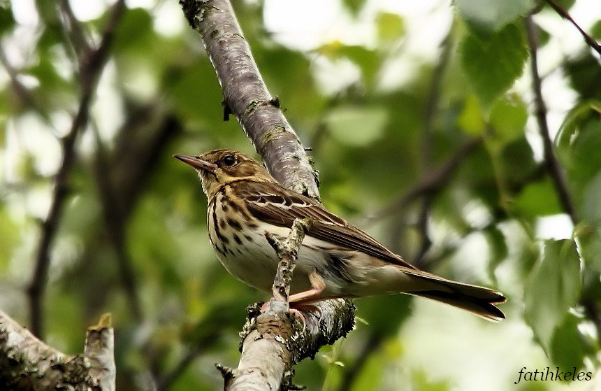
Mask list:
[[[526,30],[528,31],[528,50],[530,51],[530,72],[532,73],[532,88],[535,96],[535,116],[538,122],[540,135],[542,137],[543,150],[544,150],[544,161],[546,169],[549,172],[549,176],[553,179],[553,185],[555,186],[556,192],[559,195],[561,205],[565,213],[570,215],[570,219],[574,225],[577,225],[577,215],[572,199],[570,198],[570,191],[567,188],[567,181],[565,175],[559,164],[559,161],[553,152],[553,141],[551,141],[551,135],[549,134],[549,125],[546,122],[546,106],[544,99],[542,98],[542,87],[540,75],[538,73],[537,64],[537,36],[536,26],[533,22],[532,16],[526,17]]]

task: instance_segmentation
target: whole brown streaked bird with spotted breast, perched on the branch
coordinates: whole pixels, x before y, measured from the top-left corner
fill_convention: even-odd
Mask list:
[[[296,218],[311,218],[291,283],[291,304],[335,297],[407,293],[450,304],[486,320],[505,318],[494,290],[421,271],[309,197],[282,187],[236,150],[174,155],[200,176],[208,197],[210,242],[227,271],[271,292],[279,259],[265,232],[286,238]]]

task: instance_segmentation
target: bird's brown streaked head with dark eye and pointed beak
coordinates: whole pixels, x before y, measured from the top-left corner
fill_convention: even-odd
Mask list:
[[[237,150],[211,150],[202,155],[173,155],[198,171],[203,190],[211,199],[221,185],[233,180],[248,179],[256,182],[274,182],[266,169],[252,157]]]

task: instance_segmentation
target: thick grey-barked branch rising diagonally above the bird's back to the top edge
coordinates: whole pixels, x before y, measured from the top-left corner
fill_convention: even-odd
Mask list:
[[[284,187],[319,199],[317,171],[272,97],[227,0],[180,0],[189,24],[201,34],[224,93],[224,115],[233,113]]]

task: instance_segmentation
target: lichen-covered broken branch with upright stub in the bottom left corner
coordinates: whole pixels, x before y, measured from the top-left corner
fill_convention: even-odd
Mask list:
[[[86,333],[83,355],[66,355],[0,311],[0,389],[115,390],[110,315]]]

